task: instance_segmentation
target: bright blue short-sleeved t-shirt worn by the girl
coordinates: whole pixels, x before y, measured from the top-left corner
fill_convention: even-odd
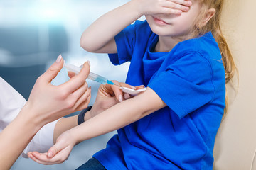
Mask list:
[[[154,52],[146,21],[119,33],[113,64],[130,61],[127,84],[153,89],[166,107],[117,130],[93,157],[111,169],[213,169],[213,146],[225,108],[225,71],[211,33]],[[122,114],[122,111],[120,111]]]

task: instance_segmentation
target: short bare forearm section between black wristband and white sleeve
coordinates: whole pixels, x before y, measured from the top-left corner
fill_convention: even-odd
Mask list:
[[[78,115],[74,115],[68,118],[61,118],[56,123],[53,133],[53,142],[55,143],[58,136],[63,132],[70,130],[78,125]]]

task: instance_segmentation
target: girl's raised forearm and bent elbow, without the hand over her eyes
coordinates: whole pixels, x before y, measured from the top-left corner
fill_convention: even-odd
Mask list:
[[[137,4],[129,1],[98,18],[89,26],[80,40],[80,46],[89,52],[117,52],[114,36],[142,16]]]

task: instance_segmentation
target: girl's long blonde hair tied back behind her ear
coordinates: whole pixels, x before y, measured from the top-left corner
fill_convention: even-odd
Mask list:
[[[235,66],[235,62],[233,60],[233,55],[230,52],[230,48],[228,47],[228,43],[226,42],[223,32],[220,28],[220,15],[223,10],[224,0],[198,0],[201,4],[202,12],[201,15],[198,17],[197,21],[200,20],[205,16],[206,12],[210,8],[215,9],[215,15],[210,18],[206,26],[203,26],[199,29],[196,29],[198,35],[204,35],[211,31],[213,33],[213,37],[215,38],[218,46],[220,48],[220,53],[222,56],[222,61],[225,69],[225,82],[226,84],[233,79],[236,72],[238,72],[237,67]],[[225,97],[225,110],[224,115],[228,109],[228,95],[226,93]]]

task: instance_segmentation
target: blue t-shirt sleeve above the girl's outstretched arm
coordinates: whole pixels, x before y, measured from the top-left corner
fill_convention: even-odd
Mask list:
[[[148,86],[179,118],[210,102],[215,91],[210,62],[197,52],[169,64]]]

